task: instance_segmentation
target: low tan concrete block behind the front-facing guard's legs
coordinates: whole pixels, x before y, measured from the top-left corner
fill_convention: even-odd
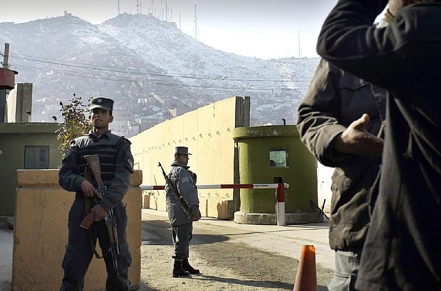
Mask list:
[[[127,239],[132,254],[129,269],[133,286],[141,280],[141,171],[135,171],[127,204]],[[61,261],[68,241],[68,214],[75,193],[58,184],[58,170],[17,170],[17,197],[12,255],[12,290],[59,290]],[[101,249],[97,248],[101,254]],[[85,291],[105,290],[103,259],[92,259],[85,277]]]

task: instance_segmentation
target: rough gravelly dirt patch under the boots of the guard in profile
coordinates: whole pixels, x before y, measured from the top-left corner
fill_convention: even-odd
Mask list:
[[[298,266],[295,259],[248,250],[238,244],[234,244],[234,252],[220,256],[219,247],[222,249],[220,244],[194,246],[191,263],[202,274],[185,279],[171,276],[170,247],[143,247],[141,278],[147,280],[139,290],[293,290]],[[325,291],[334,271],[318,272],[318,291]]]

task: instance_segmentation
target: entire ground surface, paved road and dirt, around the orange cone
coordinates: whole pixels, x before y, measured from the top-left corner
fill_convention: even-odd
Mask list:
[[[316,264],[318,291],[327,290],[325,286],[334,274],[327,224],[257,228],[205,217],[194,223],[190,242],[189,261],[201,274],[189,278],[172,278],[171,232],[166,213],[143,210],[141,285],[132,290],[293,290],[299,257],[293,250],[305,243],[316,246],[318,261],[322,261]],[[12,246],[11,230],[1,237]],[[12,255],[12,248],[8,255]],[[12,259],[2,259],[0,290],[7,291],[11,290]]]

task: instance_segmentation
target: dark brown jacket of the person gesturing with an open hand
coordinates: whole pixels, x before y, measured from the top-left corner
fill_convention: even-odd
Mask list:
[[[381,158],[334,151],[336,136],[369,114],[367,131],[377,135],[386,114],[386,90],[321,60],[298,109],[300,138],[317,160],[335,167],[332,175],[329,245],[361,249],[369,227],[367,194]]]

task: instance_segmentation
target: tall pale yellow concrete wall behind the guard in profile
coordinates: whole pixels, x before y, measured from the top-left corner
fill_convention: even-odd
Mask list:
[[[249,125],[249,107],[245,109],[248,115],[241,116],[243,109],[238,106],[241,99],[233,97],[218,101],[162,122],[130,138],[135,169],[143,171],[143,184],[165,184],[158,162],[168,173],[174,160],[174,147],[178,146],[189,147],[189,152],[193,154],[189,156],[189,166],[198,175],[197,184],[234,184],[235,149],[232,131],[235,127]],[[146,208],[165,211],[164,191],[144,193],[154,195],[147,198],[149,203],[144,203]],[[199,190],[199,198],[201,204],[209,205],[201,205],[202,215],[223,219],[233,217],[233,189]]]

